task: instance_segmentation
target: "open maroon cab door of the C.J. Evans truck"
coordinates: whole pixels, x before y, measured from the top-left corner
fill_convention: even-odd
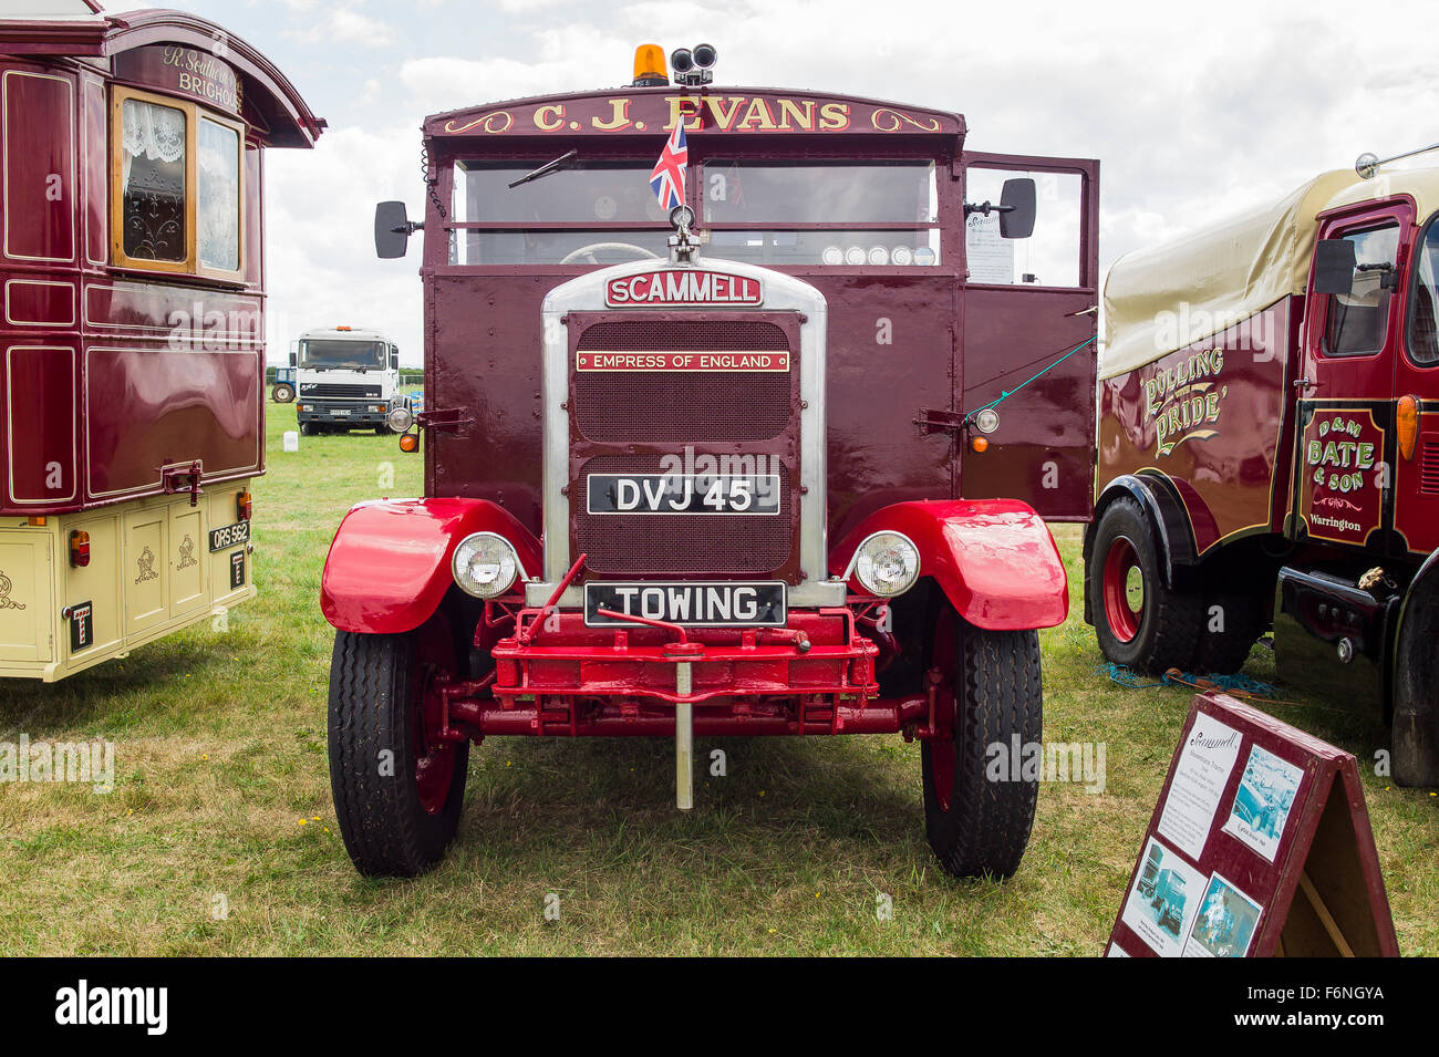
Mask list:
[[[1049,521],[1094,512],[1099,163],[966,152],[957,411],[994,404],[984,450],[961,436],[958,495],[1022,499]],[[999,237],[1004,180],[1035,180],[1035,230]],[[1086,344],[1088,342],[1088,344]],[[1068,354],[1068,357],[1066,357]],[[1039,375],[1039,377],[1036,377]],[[1006,393],[1012,395],[1004,395]]]

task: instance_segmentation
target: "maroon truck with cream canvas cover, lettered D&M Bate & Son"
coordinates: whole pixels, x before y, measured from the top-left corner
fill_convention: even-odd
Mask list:
[[[1272,624],[1439,785],[1439,170],[1356,168],[1109,270],[1085,617],[1151,672]]]

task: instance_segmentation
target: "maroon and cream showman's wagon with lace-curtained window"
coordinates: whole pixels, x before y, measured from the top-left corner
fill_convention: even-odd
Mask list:
[[[180,12],[0,17],[0,676],[55,680],[255,595],[262,154],[318,121]]]

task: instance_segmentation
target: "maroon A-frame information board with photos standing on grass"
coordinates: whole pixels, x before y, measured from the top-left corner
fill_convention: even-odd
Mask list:
[[[1197,695],[1108,955],[1397,956],[1354,756]]]

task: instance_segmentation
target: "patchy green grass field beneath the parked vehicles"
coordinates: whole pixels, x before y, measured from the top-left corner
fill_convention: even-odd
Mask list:
[[[331,630],[319,572],[344,511],[417,495],[393,437],[305,437],[269,407],[255,488],[260,595],[53,686],[13,682],[0,741],[115,742],[115,790],[0,785],[0,953],[1097,955],[1120,907],[1190,695],[1097,670],[1079,531],[1056,526],[1073,605],[1042,633],[1045,736],[1105,742],[1108,785],[1048,784],[1019,874],[955,883],[932,863],[920,749],[898,736],[708,742],[672,807],[669,741],[495,739],[471,758],[460,834],[413,882],[353,870],[330,802]],[[1272,679],[1263,650],[1249,674]],[[1360,758],[1384,731],[1274,706]],[[1366,798],[1400,949],[1439,953],[1439,798],[1371,774]],[[545,919],[547,896],[560,919]],[[892,919],[876,907],[892,903]]]

